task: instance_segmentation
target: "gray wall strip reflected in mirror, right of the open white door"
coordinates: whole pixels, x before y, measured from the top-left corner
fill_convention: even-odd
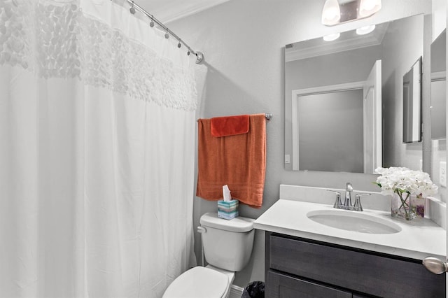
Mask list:
[[[381,75],[383,104],[383,164],[420,169],[422,143],[403,143],[403,76],[409,71],[423,51],[423,41],[416,43],[414,36],[423,36],[423,16],[415,20],[393,22],[381,43],[383,62]],[[416,22],[419,21],[419,22]],[[406,28],[407,30],[402,30]]]

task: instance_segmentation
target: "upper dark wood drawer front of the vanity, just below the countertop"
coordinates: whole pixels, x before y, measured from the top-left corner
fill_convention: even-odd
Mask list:
[[[445,296],[445,276],[421,261],[270,235],[267,267],[353,292],[385,298]]]

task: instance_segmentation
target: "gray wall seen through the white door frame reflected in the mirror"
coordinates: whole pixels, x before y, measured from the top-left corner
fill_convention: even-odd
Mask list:
[[[300,96],[299,169],[364,173],[363,90]]]

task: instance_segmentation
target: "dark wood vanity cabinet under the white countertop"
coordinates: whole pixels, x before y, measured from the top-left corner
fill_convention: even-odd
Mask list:
[[[266,232],[266,297],[445,297],[421,260]]]

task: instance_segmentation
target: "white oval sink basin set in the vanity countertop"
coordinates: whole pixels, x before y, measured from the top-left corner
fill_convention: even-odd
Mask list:
[[[394,222],[358,211],[316,210],[307,213],[310,220],[322,225],[369,234],[393,234],[401,231]]]

